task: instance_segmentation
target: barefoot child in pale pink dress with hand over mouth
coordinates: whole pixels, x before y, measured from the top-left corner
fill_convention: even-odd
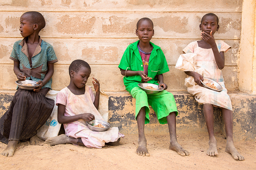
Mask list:
[[[205,14],[200,24],[202,40],[191,42],[183,49],[185,54],[180,55],[175,68],[185,71],[188,75],[188,78],[185,79],[188,92],[195,96],[197,102],[204,104],[204,117],[209,134],[207,155],[218,155],[213,126],[213,106],[218,106],[222,108],[227,135],[225,151],[236,160],[244,160],[244,157],[234,146],[232,105],[221,72],[225,66],[224,52],[227,52],[231,47],[221,40],[214,39],[213,34],[219,30],[219,27],[217,15]],[[223,90],[216,92],[204,88],[200,82],[200,80],[204,81],[204,78],[211,78],[218,82]]]

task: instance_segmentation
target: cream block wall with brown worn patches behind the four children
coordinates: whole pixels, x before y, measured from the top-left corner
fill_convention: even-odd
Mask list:
[[[25,11],[40,11],[46,19],[40,35],[52,44],[59,59],[54,66],[54,90],[68,85],[68,65],[75,59],[84,59],[92,67],[91,77],[100,80],[104,91],[125,91],[117,66],[125,48],[137,40],[136,22],[149,17],[155,26],[152,42],[163,49],[171,70],[164,74],[165,82],[169,90],[186,91],[186,76],[174,66],[182,49],[200,39],[200,18],[207,12],[214,12],[220,18],[220,30],[215,38],[232,46],[226,54],[223,74],[227,89],[238,90],[242,0],[212,1],[211,5],[203,0],[4,0],[0,6],[0,89],[16,88],[9,56],[13,43],[22,38],[20,16]]]

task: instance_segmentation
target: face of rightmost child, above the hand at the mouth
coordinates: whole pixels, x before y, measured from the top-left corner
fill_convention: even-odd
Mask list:
[[[210,34],[212,31],[212,35],[219,30],[219,25],[217,24],[217,18],[214,16],[206,16],[204,20],[200,24],[200,30],[202,32]]]

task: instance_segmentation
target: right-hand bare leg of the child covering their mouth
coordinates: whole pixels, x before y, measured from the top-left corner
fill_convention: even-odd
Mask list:
[[[233,113],[231,110],[222,108],[225,131],[227,135],[227,145],[225,152],[228,152],[236,160],[244,160],[244,157],[236,150],[233,141]]]

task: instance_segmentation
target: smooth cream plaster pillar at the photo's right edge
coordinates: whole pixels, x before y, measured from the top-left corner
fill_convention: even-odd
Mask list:
[[[239,55],[239,90],[256,94],[255,0],[244,0]]]

